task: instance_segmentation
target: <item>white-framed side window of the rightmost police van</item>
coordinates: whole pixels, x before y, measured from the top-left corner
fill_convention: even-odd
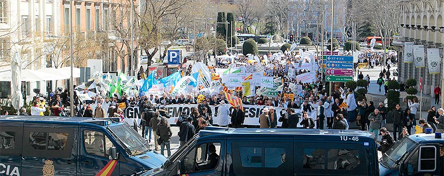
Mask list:
[[[419,171],[433,171],[436,168],[436,147],[422,146],[419,148]]]

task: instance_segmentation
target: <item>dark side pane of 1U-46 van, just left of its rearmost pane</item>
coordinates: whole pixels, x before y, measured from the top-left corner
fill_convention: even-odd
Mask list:
[[[325,150],[304,148],[303,168],[325,169]]]

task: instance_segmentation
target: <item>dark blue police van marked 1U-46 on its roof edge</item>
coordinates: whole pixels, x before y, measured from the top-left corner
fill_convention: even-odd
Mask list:
[[[206,127],[140,175],[378,175],[366,131]]]

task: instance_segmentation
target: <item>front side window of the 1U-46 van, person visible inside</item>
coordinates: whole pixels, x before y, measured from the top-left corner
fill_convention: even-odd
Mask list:
[[[220,143],[204,143],[193,148],[181,161],[181,173],[212,170],[217,167]]]

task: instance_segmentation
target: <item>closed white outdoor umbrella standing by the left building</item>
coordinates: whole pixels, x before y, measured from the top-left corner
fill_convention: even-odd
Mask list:
[[[17,115],[19,114],[20,108],[23,106],[23,95],[22,95],[22,59],[20,54],[16,52],[13,59],[11,60],[11,92],[12,92],[12,106],[17,110]]]

